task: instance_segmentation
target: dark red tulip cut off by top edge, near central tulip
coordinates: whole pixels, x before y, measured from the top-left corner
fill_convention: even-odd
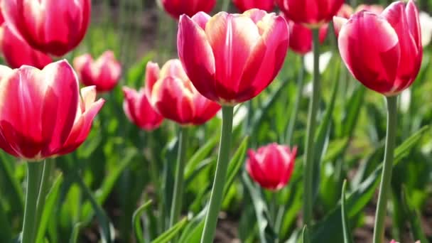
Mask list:
[[[182,14],[193,16],[199,11],[209,13],[215,4],[216,0],[162,0],[163,9],[175,19]]]

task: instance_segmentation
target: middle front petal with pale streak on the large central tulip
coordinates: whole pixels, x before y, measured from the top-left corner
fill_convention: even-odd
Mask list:
[[[222,12],[210,19],[205,33],[215,55],[217,94],[230,102],[238,97],[244,65],[260,39],[258,28],[247,16]]]

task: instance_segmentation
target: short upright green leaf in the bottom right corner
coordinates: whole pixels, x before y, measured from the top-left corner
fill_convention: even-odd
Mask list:
[[[409,216],[409,224],[411,225],[411,232],[413,233],[414,240],[420,240],[420,242],[428,242],[426,234],[421,229],[421,215],[419,210],[416,210],[409,201],[408,190],[402,185],[402,205],[406,214]]]

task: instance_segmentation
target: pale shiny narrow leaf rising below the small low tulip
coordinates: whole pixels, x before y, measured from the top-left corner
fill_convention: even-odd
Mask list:
[[[257,216],[257,224],[259,228],[259,239],[261,243],[267,242],[277,242],[277,235],[274,232],[274,229],[271,227],[271,223],[269,221],[269,210],[266,206],[266,202],[263,199],[263,196],[259,192],[259,189],[252,183],[249,179],[249,175],[244,171],[243,182],[249,190],[249,195],[251,195],[252,203],[255,208],[255,215]]]

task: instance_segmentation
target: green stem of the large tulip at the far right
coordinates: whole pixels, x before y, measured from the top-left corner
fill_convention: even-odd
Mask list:
[[[387,97],[387,138],[375,217],[374,243],[384,241],[384,221],[387,210],[387,199],[391,191],[394,144],[396,141],[396,116],[397,96]]]

